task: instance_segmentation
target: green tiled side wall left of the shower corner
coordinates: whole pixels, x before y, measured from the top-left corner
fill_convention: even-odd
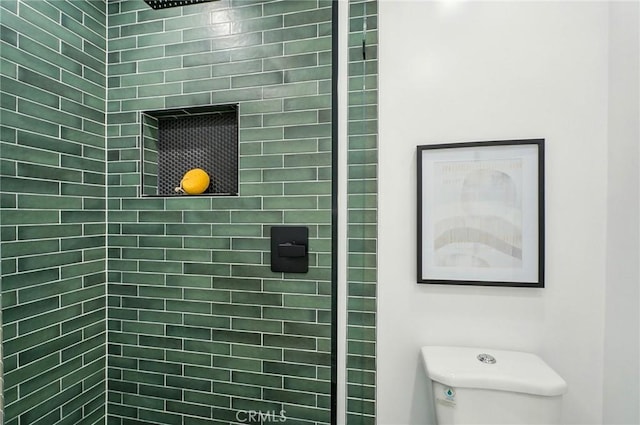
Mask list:
[[[0,26],[4,423],[104,423],[106,5]]]

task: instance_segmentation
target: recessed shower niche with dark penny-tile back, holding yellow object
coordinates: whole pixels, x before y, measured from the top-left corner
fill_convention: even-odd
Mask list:
[[[238,195],[237,104],[144,111],[140,122],[142,196],[185,196],[176,188],[194,168],[210,178],[200,196]]]

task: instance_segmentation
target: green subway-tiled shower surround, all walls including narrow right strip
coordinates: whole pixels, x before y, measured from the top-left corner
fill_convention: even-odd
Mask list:
[[[349,2],[339,140],[335,7],[0,2],[5,423],[331,423],[337,356],[348,423],[375,423],[377,13]],[[141,113],[220,104],[239,194],[142,196]],[[270,270],[274,225],[308,227],[308,273]]]

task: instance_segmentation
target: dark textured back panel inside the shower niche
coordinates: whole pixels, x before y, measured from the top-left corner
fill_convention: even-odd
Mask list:
[[[205,194],[238,194],[237,112],[158,119],[158,195],[175,195],[184,174],[202,168],[211,183]]]

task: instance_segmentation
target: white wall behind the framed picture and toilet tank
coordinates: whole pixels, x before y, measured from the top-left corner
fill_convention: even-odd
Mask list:
[[[428,421],[419,347],[538,353],[601,423],[605,2],[381,0],[378,423]],[[416,146],[546,139],[546,288],[416,284]]]

